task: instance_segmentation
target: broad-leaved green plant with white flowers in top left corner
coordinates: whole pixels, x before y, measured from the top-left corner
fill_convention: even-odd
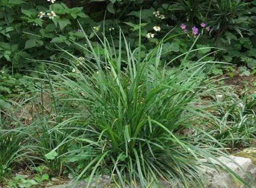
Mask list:
[[[0,3],[0,9],[0,69],[12,65],[14,72],[20,68],[31,69],[31,64],[24,63],[26,58],[54,58],[56,53],[49,50],[53,43],[70,46],[69,40],[81,38],[75,31],[76,20],[87,17],[82,7],[68,8],[55,0],[33,4],[26,0],[6,1]]]

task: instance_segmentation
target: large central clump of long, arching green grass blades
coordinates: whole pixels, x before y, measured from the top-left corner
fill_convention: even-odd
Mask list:
[[[71,65],[50,62],[51,73],[56,73],[50,75],[51,95],[70,116],[65,120],[69,123],[52,129],[65,132],[72,122],[76,136],[70,139],[82,143],[81,153],[90,156],[76,178],[91,182],[95,175],[109,173],[119,187],[204,187],[202,166],[214,167],[215,155],[225,155],[205,144],[214,138],[198,126],[216,121],[207,112],[211,105],[200,104],[200,97],[211,94],[204,67],[212,62],[186,63],[190,50],[180,56],[183,65],[172,69],[161,62],[166,38],[142,58],[140,41],[131,50],[121,32],[115,48],[114,42],[101,41],[102,56],[84,37],[87,45],[77,45],[90,56],[84,56],[79,68],[68,51]]]

